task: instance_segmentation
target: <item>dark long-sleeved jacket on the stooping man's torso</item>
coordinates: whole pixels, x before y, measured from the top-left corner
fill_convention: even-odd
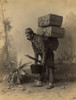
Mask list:
[[[34,35],[32,40],[32,47],[34,49],[35,58],[38,59],[38,56],[41,56],[41,64],[47,64],[47,62],[54,63],[54,54],[51,48],[49,48],[50,41],[47,38],[43,38],[38,35]],[[50,59],[51,58],[51,59]],[[36,62],[35,62],[36,63]]]

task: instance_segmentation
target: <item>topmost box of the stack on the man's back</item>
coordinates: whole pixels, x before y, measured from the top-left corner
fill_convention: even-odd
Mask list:
[[[38,18],[38,27],[47,27],[47,26],[61,26],[63,21],[62,16],[48,14]]]

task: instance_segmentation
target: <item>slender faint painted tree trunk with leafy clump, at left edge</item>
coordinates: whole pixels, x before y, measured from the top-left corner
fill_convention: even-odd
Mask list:
[[[5,46],[6,46],[6,56],[7,56],[7,63],[9,64],[9,51],[8,51],[8,31],[11,30],[11,24],[8,18],[5,18],[5,5],[7,1],[6,0],[0,0],[1,5],[1,12],[2,12],[2,22],[3,22],[3,28],[5,32]]]

